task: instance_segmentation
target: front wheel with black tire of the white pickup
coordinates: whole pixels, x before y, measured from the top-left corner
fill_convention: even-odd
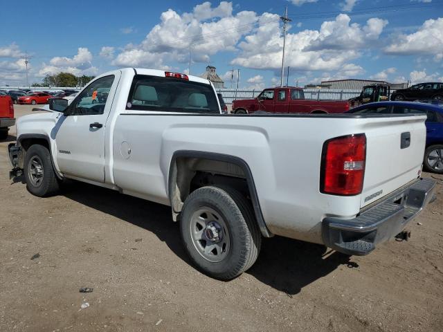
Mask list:
[[[33,179],[33,166],[31,163],[37,161],[41,163],[42,176],[39,183]],[[34,166],[34,169],[36,167]],[[31,145],[26,151],[24,163],[24,176],[26,179],[26,188],[28,191],[39,197],[46,197],[56,194],[60,189],[60,183],[55,175],[53,165],[51,163],[51,155],[43,145]],[[36,177],[36,176],[35,176]]]

